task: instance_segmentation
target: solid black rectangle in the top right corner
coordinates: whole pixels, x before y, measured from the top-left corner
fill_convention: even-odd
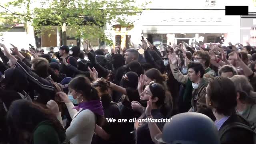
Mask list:
[[[226,16],[248,16],[248,6],[226,6]]]

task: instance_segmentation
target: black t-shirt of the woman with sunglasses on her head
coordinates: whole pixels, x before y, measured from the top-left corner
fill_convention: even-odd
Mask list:
[[[160,109],[153,109],[151,111],[153,119],[166,119],[160,112]],[[146,119],[146,115],[142,114],[142,119]],[[164,122],[156,122],[158,128],[162,131]],[[138,127],[137,131],[134,132],[136,138],[136,144],[154,144],[151,139],[148,123],[144,122]]]

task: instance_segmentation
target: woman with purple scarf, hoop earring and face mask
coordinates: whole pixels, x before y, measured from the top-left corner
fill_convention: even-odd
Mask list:
[[[58,96],[65,102],[72,122],[66,130],[66,142],[71,144],[91,144],[92,136],[96,125],[102,126],[104,122],[104,112],[102,102],[98,92],[90,84],[90,80],[83,76],[78,76],[71,80],[69,84],[69,94],[79,103],[74,106],[64,92],[59,92]],[[47,103],[48,108],[61,120],[58,106],[53,100]]]

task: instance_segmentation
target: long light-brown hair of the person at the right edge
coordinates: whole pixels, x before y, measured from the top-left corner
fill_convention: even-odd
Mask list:
[[[246,104],[256,104],[256,92],[250,84],[248,78],[243,75],[236,75],[230,78],[240,93],[240,100]]]

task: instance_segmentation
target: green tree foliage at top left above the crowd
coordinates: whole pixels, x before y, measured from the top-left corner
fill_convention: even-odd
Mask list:
[[[132,25],[128,16],[142,11],[149,2],[136,0],[14,0],[0,5],[0,17],[5,25],[27,24],[40,34],[42,26],[58,26],[75,30],[74,37],[100,38],[111,43],[104,33],[106,23]],[[62,31],[62,32],[63,32]]]

